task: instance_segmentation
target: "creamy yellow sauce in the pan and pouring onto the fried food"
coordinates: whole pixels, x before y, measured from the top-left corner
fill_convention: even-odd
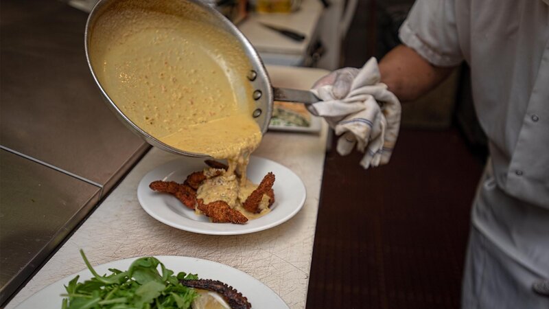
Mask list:
[[[135,3],[119,1],[93,28],[90,57],[102,88],[132,123],[164,144],[228,159],[229,170],[207,179],[197,198],[225,201],[249,219],[267,214],[267,196],[259,214],[242,208],[257,187],[246,179],[246,166],[261,141],[242,47],[203,23],[196,8],[174,9],[167,1],[143,10],[139,5],[149,4]]]

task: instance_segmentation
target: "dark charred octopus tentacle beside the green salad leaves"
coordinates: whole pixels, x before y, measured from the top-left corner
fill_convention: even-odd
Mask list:
[[[232,309],[250,309],[252,304],[248,301],[246,297],[235,290],[232,286],[228,286],[223,282],[218,280],[211,279],[194,279],[194,280],[179,280],[180,284],[183,286],[188,286],[189,288],[201,288],[202,290],[210,290],[212,292],[218,293],[223,297],[223,299],[231,306]]]

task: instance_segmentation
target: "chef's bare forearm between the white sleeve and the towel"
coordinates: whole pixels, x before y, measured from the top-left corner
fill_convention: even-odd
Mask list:
[[[454,67],[435,67],[414,49],[399,45],[379,62],[382,82],[401,102],[412,101],[440,84]]]

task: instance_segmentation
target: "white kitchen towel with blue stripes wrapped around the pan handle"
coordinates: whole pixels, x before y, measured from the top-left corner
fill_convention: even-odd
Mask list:
[[[364,152],[360,161],[363,168],[388,163],[399,133],[400,102],[380,79],[377,60],[370,58],[344,98],[334,98],[333,86],[327,84],[311,90],[322,101],[307,106],[341,135],[337,147],[340,155],[349,155],[355,145]]]

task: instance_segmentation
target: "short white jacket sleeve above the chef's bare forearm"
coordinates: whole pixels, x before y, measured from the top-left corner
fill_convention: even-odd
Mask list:
[[[399,38],[432,65],[454,67],[463,60],[454,0],[417,0]]]

